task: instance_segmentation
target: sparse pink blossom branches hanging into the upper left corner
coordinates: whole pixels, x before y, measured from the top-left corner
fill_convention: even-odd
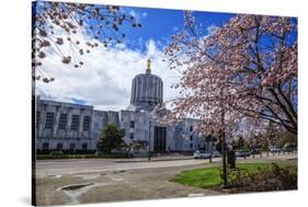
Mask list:
[[[81,68],[82,56],[99,42],[105,47],[122,43],[124,25],[141,26],[117,5],[53,1],[33,2],[32,22],[32,77],[46,83],[54,80],[44,69],[48,55],[57,54],[64,65]]]

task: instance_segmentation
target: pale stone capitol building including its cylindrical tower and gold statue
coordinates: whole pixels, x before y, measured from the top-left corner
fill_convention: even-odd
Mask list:
[[[132,82],[130,105],[126,110],[98,111],[80,105],[36,97],[36,150],[92,151],[107,123],[124,129],[123,140],[138,153],[194,151],[208,149],[206,141],[193,131],[198,119],[185,118],[173,125],[161,125],[151,115],[163,103],[163,82],[152,74],[150,60],[145,73]],[[149,145],[150,143],[150,145]]]

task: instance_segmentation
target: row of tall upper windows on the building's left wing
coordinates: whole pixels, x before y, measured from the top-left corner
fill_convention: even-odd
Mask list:
[[[41,112],[36,112],[36,125],[38,125],[39,123],[39,116],[41,116]],[[54,125],[55,125],[55,113],[47,112],[46,119],[45,119],[45,128],[52,129],[54,128]],[[58,129],[67,129],[67,125],[68,125],[68,115],[60,114]],[[84,116],[82,129],[90,130],[90,125],[91,125],[91,116]],[[80,126],[80,115],[72,115],[70,129],[79,130],[79,126]]]

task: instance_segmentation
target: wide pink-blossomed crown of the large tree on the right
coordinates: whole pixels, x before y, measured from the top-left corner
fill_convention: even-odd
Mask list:
[[[184,31],[166,50],[181,72],[171,112],[161,120],[201,118],[203,134],[236,135],[269,123],[297,134],[297,22],[292,18],[238,14],[202,36],[191,12]],[[163,106],[161,106],[162,108]],[[156,108],[156,112],[160,108]]]

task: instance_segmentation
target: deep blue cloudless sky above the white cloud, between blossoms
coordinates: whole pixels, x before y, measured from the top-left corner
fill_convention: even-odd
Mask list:
[[[147,9],[147,8],[128,8],[123,7],[122,10],[133,13],[142,24],[141,28],[132,30],[130,26],[125,26],[124,32],[127,35],[125,44],[129,48],[145,50],[142,43],[153,39],[160,43],[163,47],[168,44],[170,36],[183,30],[184,15],[181,10],[170,9]],[[204,35],[207,34],[209,26],[221,26],[227,23],[230,18],[235,16],[231,13],[215,13],[215,12],[194,12],[196,23],[201,26]]]

